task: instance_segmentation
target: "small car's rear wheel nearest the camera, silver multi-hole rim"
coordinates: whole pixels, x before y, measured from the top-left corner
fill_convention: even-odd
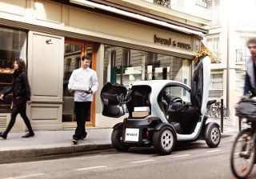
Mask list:
[[[153,135],[154,149],[161,155],[168,155],[176,145],[176,135],[174,129],[165,126],[162,129],[155,131]]]

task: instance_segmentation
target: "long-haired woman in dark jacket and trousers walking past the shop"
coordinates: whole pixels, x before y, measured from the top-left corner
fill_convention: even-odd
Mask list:
[[[4,100],[5,96],[13,92],[14,108],[11,113],[9,125],[4,133],[0,133],[0,137],[6,139],[10,129],[14,126],[18,113],[21,114],[23,121],[26,124],[29,133],[26,133],[22,137],[34,136],[34,131],[30,124],[30,119],[26,116],[26,103],[31,104],[30,101],[30,84],[26,75],[26,64],[22,59],[14,60],[14,75],[10,88],[3,91],[0,95],[0,99]]]

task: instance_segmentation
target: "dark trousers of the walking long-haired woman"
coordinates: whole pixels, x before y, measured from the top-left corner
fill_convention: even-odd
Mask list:
[[[17,105],[15,105],[15,103],[14,103],[14,110],[11,113],[10,122],[6,128],[6,131],[4,132],[4,135],[7,135],[10,132],[10,129],[12,129],[12,127],[14,126],[14,123],[16,121],[16,117],[17,117],[18,113],[21,114],[22,119],[25,122],[27,129],[29,129],[29,132],[34,133],[32,127],[31,127],[31,124],[30,124],[30,119],[26,116],[26,101],[25,101],[25,102],[22,102],[22,104],[17,104]]]

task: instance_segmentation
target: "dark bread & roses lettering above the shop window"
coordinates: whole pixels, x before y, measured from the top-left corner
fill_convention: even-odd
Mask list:
[[[187,44],[187,43],[184,43],[184,42],[174,41],[171,38],[159,38],[156,34],[154,35],[154,42],[155,43],[160,43],[160,44],[166,45],[166,46],[178,47],[178,48],[183,49],[183,50],[190,50],[191,49],[190,44]]]

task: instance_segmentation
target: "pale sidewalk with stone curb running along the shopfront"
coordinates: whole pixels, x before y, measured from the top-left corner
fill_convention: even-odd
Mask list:
[[[218,119],[209,119],[207,122]],[[57,154],[79,153],[100,149],[111,149],[112,129],[88,128],[85,141],[79,141],[73,145],[72,135],[74,129],[58,131],[35,131],[35,137],[22,138],[26,132],[9,133],[6,140],[0,138],[0,163],[19,159],[44,157]],[[236,135],[238,125],[230,120],[224,120],[224,131],[222,136]]]

